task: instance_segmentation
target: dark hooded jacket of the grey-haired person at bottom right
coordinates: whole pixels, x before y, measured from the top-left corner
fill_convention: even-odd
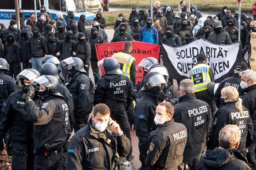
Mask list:
[[[198,170],[251,170],[246,157],[236,149],[207,150],[198,164]]]

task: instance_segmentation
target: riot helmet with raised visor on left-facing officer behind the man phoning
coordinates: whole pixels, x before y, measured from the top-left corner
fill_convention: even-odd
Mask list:
[[[61,61],[61,64],[64,68],[68,68],[69,66],[71,66],[71,67],[74,67],[75,71],[87,73],[85,69],[83,69],[82,59],[78,57],[69,57],[69,58],[63,59]]]

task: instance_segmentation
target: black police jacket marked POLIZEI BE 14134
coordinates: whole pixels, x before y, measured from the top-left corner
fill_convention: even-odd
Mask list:
[[[131,91],[132,81],[125,75],[104,75],[102,76],[94,91],[94,105],[105,103],[110,110],[114,110],[116,103],[126,103],[126,108],[132,104]]]

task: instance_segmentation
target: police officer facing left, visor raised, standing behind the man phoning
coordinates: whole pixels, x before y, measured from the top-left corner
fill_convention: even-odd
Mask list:
[[[68,68],[68,82],[66,87],[73,96],[75,132],[85,126],[89,114],[92,112],[94,101],[93,82],[83,69],[83,61],[78,57],[69,57],[61,61],[64,68]],[[80,125],[80,126],[79,126]]]

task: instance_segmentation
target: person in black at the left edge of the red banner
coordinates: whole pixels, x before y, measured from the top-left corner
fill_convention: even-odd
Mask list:
[[[98,73],[98,58],[96,55],[96,49],[95,49],[95,44],[103,44],[105,43],[104,37],[98,34],[97,28],[92,28],[91,29],[91,36],[88,38],[89,42],[91,43],[91,67],[92,67],[92,72],[93,72],[93,77],[94,77],[94,82],[97,84],[100,76]]]

